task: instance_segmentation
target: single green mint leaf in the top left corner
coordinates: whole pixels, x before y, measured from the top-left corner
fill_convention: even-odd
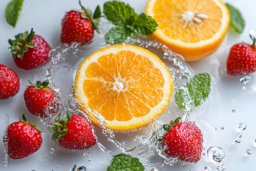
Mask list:
[[[23,0],[12,0],[6,7],[5,18],[8,24],[15,27],[18,15],[22,9]]]

